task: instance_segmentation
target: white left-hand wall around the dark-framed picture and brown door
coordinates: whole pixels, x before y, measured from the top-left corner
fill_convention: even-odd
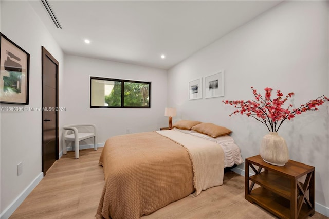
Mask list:
[[[64,55],[43,22],[27,1],[1,1],[1,32],[30,54],[30,88],[28,107],[42,107],[41,46],[58,61],[60,78]],[[61,88],[60,88],[61,89]],[[62,98],[60,96],[59,98]],[[1,104],[0,107],[24,105]],[[0,212],[6,218],[16,198],[41,175],[41,112],[1,112],[1,195]],[[23,173],[17,176],[17,163]],[[7,215],[7,216],[6,216]],[[2,218],[3,218],[2,217]]]

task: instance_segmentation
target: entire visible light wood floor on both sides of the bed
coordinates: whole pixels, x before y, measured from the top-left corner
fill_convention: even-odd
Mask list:
[[[62,156],[38,186],[11,215],[14,218],[95,218],[104,186],[103,168],[98,166],[102,148],[70,151]],[[152,218],[276,218],[244,198],[244,177],[229,171],[222,186],[186,197],[159,209]],[[315,213],[312,219],[328,218]]]

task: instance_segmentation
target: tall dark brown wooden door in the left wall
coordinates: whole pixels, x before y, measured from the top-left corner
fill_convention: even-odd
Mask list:
[[[42,171],[58,160],[58,61],[42,47]]]

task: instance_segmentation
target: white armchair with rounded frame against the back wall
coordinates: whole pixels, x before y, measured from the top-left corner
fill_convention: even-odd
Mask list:
[[[92,132],[79,132],[78,129],[82,130],[82,127],[84,127],[83,131],[88,131],[86,127],[92,127]],[[97,138],[96,138],[96,126],[94,124],[72,124],[72,125],[64,125],[63,126],[63,134],[62,134],[62,145],[63,145],[63,154],[66,154],[66,141],[72,141],[74,142],[74,150],[75,150],[75,158],[79,158],[79,141],[93,138],[94,137],[94,150],[97,150]],[[72,133],[73,134],[69,134]]]

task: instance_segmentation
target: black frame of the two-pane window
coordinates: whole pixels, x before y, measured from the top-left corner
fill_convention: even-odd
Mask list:
[[[121,106],[92,106],[92,80],[121,82]],[[124,82],[149,84],[149,106],[124,106]],[[90,76],[90,79],[89,79],[89,107],[90,108],[151,108],[151,82]]]

